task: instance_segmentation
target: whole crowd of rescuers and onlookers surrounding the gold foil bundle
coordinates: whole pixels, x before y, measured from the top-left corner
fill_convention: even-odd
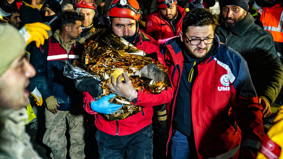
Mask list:
[[[219,0],[219,15],[215,3],[0,1],[0,158],[42,158],[25,132],[33,99],[51,158],[95,158],[85,155],[90,134],[101,159],[153,158],[156,141],[159,158],[283,158],[283,2]],[[105,28],[156,56],[171,88],[136,90],[120,69],[107,83],[115,94],[99,97],[96,79],[65,77],[62,61],[82,61]],[[106,118],[122,107],[116,95],[141,110]]]

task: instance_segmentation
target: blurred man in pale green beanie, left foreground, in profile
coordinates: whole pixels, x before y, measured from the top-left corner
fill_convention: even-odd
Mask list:
[[[35,69],[25,58],[25,46],[17,29],[0,24],[0,158],[41,158],[25,132],[27,86],[29,78],[35,75]]]

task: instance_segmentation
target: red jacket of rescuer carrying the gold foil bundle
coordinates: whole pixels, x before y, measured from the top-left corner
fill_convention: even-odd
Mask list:
[[[146,53],[156,52],[158,55],[158,60],[165,64],[163,56],[160,54],[158,43],[153,40],[150,36],[141,32],[140,42],[136,47]],[[84,98],[84,108],[89,114],[95,114],[95,125],[96,127],[110,135],[122,136],[133,134],[145,126],[152,123],[153,108],[152,106],[168,103],[173,98],[173,89],[164,90],[160,94],[149,94],[145,92],[138,91],[138,100],[135,105],[142,106],[142,110],[130,117],[123,120],[108,121],[102,117],[99,113],[91,110],[91,105],[89,102],[94,101],[92,96],[88,92],[83,92]]]

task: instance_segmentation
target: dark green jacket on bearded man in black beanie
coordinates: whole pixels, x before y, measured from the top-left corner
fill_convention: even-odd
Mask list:
[[[258,97],[273,103],[283,84],[283,66],[270,32],[254,24],[254,18],[247,12],[230,33],[223,23],[216,27],[215,33],[220,42],[245,58]]]

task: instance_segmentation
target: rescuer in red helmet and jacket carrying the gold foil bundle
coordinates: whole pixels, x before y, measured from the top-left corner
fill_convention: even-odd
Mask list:
[[[138,29],[140,15],[140,7],[136,0],[114,0],[108,8],[112,31],[148,54],[156,52],[158,60],[164,64],[158,43]],[[171,101],[173,90],[164,90],[156,95],[140,92],[133,88],[126,74],[124,74],[126,83],[121,82],[121,77],[122,75],[117,78],[117,83],[112,80],[113,86],[109,83],[109,88],[117,95],[128,98],[132,104],[143,107],[139,113],[126,119],[109,121],[102,116],[121,107],[121,105],[117,106],[108,102],[108,99],[115,96],[114,94],[95,101],[88,92],[83,93],[86,112],[95,115],[100,158],[152,158],[152,106]]]

